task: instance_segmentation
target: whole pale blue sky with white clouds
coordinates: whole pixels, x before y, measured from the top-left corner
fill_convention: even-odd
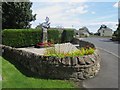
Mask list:
[[[50,19],[51,27],[75,28],[87,27],[96,33],[102,24],[116,30],[118,24],[118,2],[93,2],[89,0],[30,0],[33,2],[32,13],[37,14],[36,20],[31,22],[32,28]],[[95,1],[95,0],[94,0]],[[102,1],[102,0],[101,0]]]

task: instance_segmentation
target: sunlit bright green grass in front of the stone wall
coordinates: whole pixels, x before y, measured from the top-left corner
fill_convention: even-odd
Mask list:
[[[0,57],[1,61],[2,88],[75,88],[70,81],[27,77],[3,57]]]

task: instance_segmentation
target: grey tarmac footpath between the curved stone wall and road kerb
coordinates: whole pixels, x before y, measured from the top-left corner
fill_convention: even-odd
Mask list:
[[[86,88],[117,88],[118,87],[118,58],[100,50],[101,70],[98,75],[83,82]]]

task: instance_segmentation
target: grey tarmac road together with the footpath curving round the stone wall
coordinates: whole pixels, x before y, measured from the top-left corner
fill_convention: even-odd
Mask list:
[[[100,51],[101,70],[92,79],[83,82],[86,88],[118,88],[118,43],[109,38],[86,38],[85,41],[92,42]],[[105,51],[104,51],[105,49]],[[110,53],[109,53],[110,52]],[[88,89],[89,90],[89,89]]]

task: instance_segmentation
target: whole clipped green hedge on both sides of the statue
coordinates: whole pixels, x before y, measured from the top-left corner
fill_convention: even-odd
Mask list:
[[[48,29],[48,41],[54,43],[69,42],[73,39],[74,30],[57,28]],[[5,29],[2,31],[2,44],[12,47],[28,47],[42,41],[42,29]]]

